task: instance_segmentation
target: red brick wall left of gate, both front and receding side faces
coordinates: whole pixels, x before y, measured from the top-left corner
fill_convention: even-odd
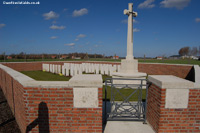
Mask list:
[[[73,88],[25,88],[2,69],[0,87],[23,133],[102,132],[102,88],[98,108],[73,108]]]

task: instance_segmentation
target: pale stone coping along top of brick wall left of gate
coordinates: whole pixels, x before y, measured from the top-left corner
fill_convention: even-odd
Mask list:
[[[2,64],[0,64],[0,68],[6,71],[11,77],[17,80],[24,87],[39,87],[39,88],[97,87],[97,88],[101,88],[103,85],[101,75],[87,75],[87,74],[76,75],[72,77],[69,81],[36,81]],[[90,81],[83,80],[83,79],[90,79]],[[79,81],[80,83],[76,84]],[[95,84],[93,83],[94,81],[95,81]]]

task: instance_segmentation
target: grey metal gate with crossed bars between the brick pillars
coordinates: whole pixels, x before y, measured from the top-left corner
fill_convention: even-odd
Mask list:
[[[122,80],[128,82],[124,84],[121,82]],[[147,94],[146,79],[106,79],[104,121],[128,120],[146,123]],[[107,100],[108,97],[110,102]],[[109,111],[107,110],[108,102],[110,104]]]

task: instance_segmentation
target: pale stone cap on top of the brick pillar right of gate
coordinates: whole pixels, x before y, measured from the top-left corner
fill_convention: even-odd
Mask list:
[[[194,82],[173,75],[150,75],[148,80],[158,87],[165,89],[194,88]]]

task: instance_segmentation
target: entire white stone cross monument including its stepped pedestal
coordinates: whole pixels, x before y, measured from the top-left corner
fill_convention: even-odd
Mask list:
[[[133,57],[133,17],[137,16],[137,12],[133,11],[133,3],[129,3],[129,9],[124,10],[124,14],[128,15],[128,32],[127,32],[127,56],[121,61],[121,69],[119,72],[113,73],[113,78],[124,79],[146,79],[147,74],[138,72],[138,60]],[[116,84],[137,84],[134,80],[114,80]]]

